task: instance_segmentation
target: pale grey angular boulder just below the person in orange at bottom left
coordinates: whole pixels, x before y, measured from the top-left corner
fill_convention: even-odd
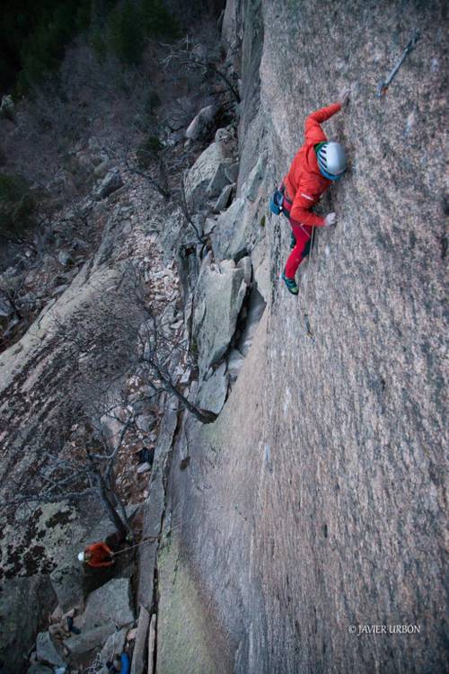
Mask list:
[[[128,578],[115,578],[89,595],[81,628],[90,630],[107,623],[121,627],[133,620],[130,581]]]

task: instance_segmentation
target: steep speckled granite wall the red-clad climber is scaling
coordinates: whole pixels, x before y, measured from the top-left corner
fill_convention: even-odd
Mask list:
[[[257,52],[260,16],[250,3],[233,7],[244,14],[243,89],[257,92],[245,49]],[[263,4],[260,105],[242,111],[239,185],[267,149],[267,201],[307,113],[356,83],[348,111],[325,126],[351,169],[323,199],[339,226],[317,233],[299,301],[277,282],[286,220],[269,218],[272,291],[251,350],[218,421],[180,434],[174,535],[159,569],[162,674],[174,673],[190,633],[196,671],[211,671],[216,624],[216,662],[232,652],[229,670],[245,674],[445,668],[442,8]],[[381,101],[377,84],[415,27],[424,37]],[[178,619],[186,578],[203,596],[189,621]],[[392,634],[395,625],[419,634]]]

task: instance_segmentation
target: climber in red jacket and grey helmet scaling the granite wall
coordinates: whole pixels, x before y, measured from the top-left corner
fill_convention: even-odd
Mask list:
[[[295,155],[281,186],[281,191],[284,191],[283,212],[292,227],[290,247],[293,248],[282,279],[293,295],[298,294],[295,273],[310,252],[313,227],[334,225],[337,220],[335,213],[320,217],[312,213],[311,208],[332,181],[338,181],[346,171],[343,147],[328,141],[321,123],[341,110],[348,100],[349,90],[345,89],[340,93],[339,102],[313,112],[305,120],[304,146]]]

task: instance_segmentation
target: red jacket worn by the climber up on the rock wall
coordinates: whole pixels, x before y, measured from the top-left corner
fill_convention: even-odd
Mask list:
[[[320,173],[314,147],[328,138],[321,129],[321,123],[329,120],[341,109],[340,103],[332,103],[327,108],[313,112],[305,120],[304,146],[296,153],[289,172],[284,178],[286,195],[293,201],[290,220],[295,225],[323,226],[324,218],[311,213],[310,209],[318,202],[323,191],[332,181]]]

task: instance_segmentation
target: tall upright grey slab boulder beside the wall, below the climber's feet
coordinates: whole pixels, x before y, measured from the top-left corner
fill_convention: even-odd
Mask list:
[[[243,271],[237,269],[232,260],[222,262],[219,267],[206,267],[198,279],[194,333],[202,375],[224,356],[233,338],[245,293]]]

